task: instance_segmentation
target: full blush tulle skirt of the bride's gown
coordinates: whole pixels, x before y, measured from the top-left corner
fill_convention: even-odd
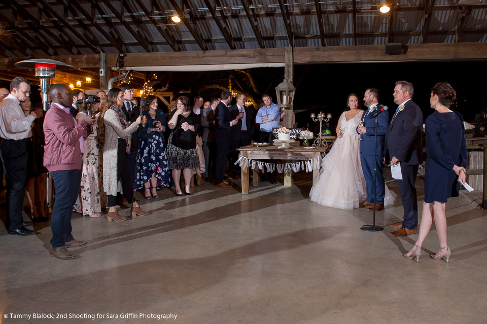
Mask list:
[[[355,136],[338,137],[323,159],[318,181],[309,192],[311,201],[341,209],[358,208],[367,198],[365,178]]]

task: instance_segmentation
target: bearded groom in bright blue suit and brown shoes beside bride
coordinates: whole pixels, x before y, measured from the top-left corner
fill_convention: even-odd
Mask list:
[[[360,163],[364,172],[365,184],[367,187],[367,199],[364,207],[367,210],[374,210],[374,162],[376,162],[375,181],[375,210],[384,209],[384,197],[386,195],[384,176],[382,175],[382,162],[384,162],[384,140],[389,126],[389,114],[384,111],[377,115],[377,151],[375,151],[375,119],[370,119],[377,109],[379,101],[379,90],[368,88],[364,95],[365,106],[368,109],[362,114],[361,122],[364,126],[358,126],[357,131],[360,137]]]

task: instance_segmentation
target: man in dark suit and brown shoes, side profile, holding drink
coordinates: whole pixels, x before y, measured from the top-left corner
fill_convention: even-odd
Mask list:
[[[232,101],[232,93],[228,90],[222,92],[222,101],[215,109],[215,145],[217,157],[215,163],[215,186],[230,187],[225,177],[225,167],[227,165],[227,155],[230,148],[231,134],[230,127],[237,124],[236,119],[232,119],[228,104]]]

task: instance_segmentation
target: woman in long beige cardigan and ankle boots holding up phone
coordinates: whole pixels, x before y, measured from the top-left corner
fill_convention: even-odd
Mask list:
[[[117,211],[117,192],[120,192],[119,182],[122,183],[123,195],[128,203],[133,203],[132,216],[147,215],[133,197],[133,188],[129,174],[126,152],[130,151],[130,134],[138,129],[141,123],[139,116],[130,126],[120,107],[123,104],[123,92],[118,88],[110,89],[103,112],[98,119],[98,146],[103,148],[103,189],[107,193],[107,206],[110,208],[107,219],[121,222],[127,218]]]

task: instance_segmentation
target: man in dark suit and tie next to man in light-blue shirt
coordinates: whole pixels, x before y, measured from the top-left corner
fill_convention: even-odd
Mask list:
[[[254,135],[254,118],[250,107],[245,106],[245,101],[245,95],[240,93],[237,95],[237,103],[229,107],[230,115],[237,119],[237,124],[230,129],[232,133],[232,173],[234,179],[238,179],[241,173],[240,166],[234,164],[238,159],[237,149],[250,145]]]

